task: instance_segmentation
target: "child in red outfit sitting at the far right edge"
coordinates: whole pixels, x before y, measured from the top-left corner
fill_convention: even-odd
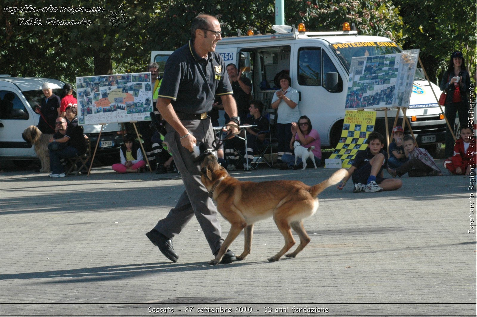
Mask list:
[[[474,131],[468,126],[460,129],[460,138],[454,146],[454,155],[444,161],[444,167],[454,175],[469,175],[470,166],[477,162]]]

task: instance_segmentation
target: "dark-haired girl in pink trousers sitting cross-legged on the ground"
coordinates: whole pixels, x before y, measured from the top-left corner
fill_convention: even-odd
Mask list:
[[[124,144],[121,145],[121,163],[113,164],[113,170],[118,173],[140,173],[146,165],[139,143],[135,142],[131,134],[124,135]]]

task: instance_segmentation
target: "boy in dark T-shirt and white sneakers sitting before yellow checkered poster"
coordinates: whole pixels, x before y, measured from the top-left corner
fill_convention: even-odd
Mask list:
[[[399,179],[384,178],[383,169],[387,167],[388,153],[383,150],[384,136],[372,132],[368,136],[368,147],[360,150],[347,170],[348,175],[338,184],[342,190],[346,182],[353,176],[353,193],[373,193],[383,190],[396,190],[403,183]],[[379,184],[379,185],[378,185]]]

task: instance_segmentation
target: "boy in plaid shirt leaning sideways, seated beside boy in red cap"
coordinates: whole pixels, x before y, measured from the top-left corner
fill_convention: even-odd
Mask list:
[[[416,147],[414,138],[406,135],[403,139],[404,153],[409,157],[409,161],[398,168],[388,168],[389,174],[393,177],[401,177],[408,173],[409,177],[417,176],[441,176],[441,170],[437,167],[432,156],[425,150]]]

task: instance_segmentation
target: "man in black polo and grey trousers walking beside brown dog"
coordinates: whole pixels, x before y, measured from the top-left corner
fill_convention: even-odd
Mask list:
[[[231,117],[229,123],[240,123],[225,63],[215,52],[217,42],[222,39],[220,34],[220,23],[213,16],[201,14],[192,21],[192,39],[167,60],[157,98],[156,107],[167,122],[164,141],[171,149],[185,191],[166,218],[160,220],[146,235],[173,262],[177,262],[179,256],[171,240],[193,215],[213,254],[217,254],[224,242],[217,208],[200,181],[200,162],[194,162],[192,153],[195,144],[202,142],[211,147],[215,140],[212,124],[207,117],[215,96],[221,97],[224,109]],[[227,130],[229,133],[238,132],[235,126],[228,126]],[[235,260],[234,253],[228,250],[221,263]]]

